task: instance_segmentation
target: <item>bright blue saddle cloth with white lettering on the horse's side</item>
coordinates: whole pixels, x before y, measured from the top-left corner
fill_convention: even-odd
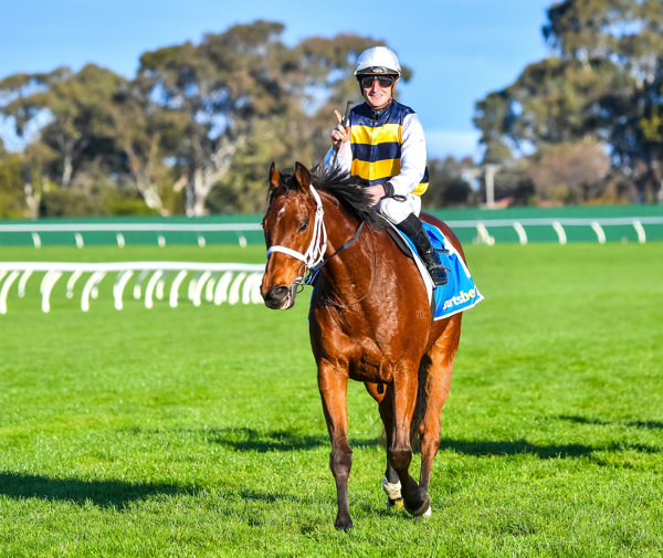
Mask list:
[[[474,280],[472,278],[465,262],[463,262],[461,254],[457,253],[455,248],[453,248],[453,244],[446,236],[444,236],[444,234],[442,234],[440,229],[425,222],[423,223],[423,229],[429,235],[433,249],[440,252],[442,265],[449,270],[449,282],[446,285],[439,285],[433,289],[433,296],[431,299],[433,320],[444,319],[457,314],[459,312],[473,308],[481,301],[483,301],[484,297],[478,292],[478,288],[476,288]],[[410,239],[408,239],[404,234],[401,235],[410,245],[412,253],[417,254],[417,250],[414,250]],[[423,267],[423,264],[420,266],[420,269],[421,267]],[[428,277],[428,273],[424,281],[432,285],[430,277]]]

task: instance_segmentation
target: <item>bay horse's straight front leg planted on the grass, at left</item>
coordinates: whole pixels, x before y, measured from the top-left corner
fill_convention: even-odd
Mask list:
[[[318,366],[318,388],[332,442],[329,467],[336,481],[338,512],[334,526],[347,531],[352,528],[348,504],[348,477],[352,466],[352,450],[348,444],[347,373],[323,361]]]

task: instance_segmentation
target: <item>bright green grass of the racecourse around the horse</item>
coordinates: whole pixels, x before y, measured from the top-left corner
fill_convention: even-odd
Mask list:
[[[295,308],[0,316],[0,556],[661,556],[663,243],[469,246],[433,515],[389,513],[375,403],[349,389],[355,529]],[[261,262],[262,248],[2,249],[4,260]],[[12,287],[12,293],[15,288]],[[414,457],[418,466],[418,456]]]

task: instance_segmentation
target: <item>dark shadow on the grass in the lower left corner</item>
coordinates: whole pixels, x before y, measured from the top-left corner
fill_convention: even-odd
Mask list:
[[[39,498],[50,502],[72,502],[81,506],[92,503],[98,507],[122,510],[133,502],[154,495],[178,496],[192,493],[191,488],[167,483],[50,478],[10,471],[0,472],[0,495],[14,499]]]

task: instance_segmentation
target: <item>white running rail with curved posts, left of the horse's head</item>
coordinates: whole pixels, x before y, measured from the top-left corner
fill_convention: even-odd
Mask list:
[[[81,309],[90,309],[90,301],[98,296],[102,281],[112,275],[113,299],[118,310],[124,306],[127,285],[134,298],[145,301],[151,308],[155,299],[164,299],[168,289],[168,304],[175,308],[180,299],[180,286],[188,281],[187,298],[200,306],[202,301],[220,305],[261,304],[260,283],[263,264],[199,263],[199,262],[0,262],[0,314],[7,313],[9,293],[17,283],[19,297],[25,296],[27,284],[33,274],[42,276],[40,294],[42,310],[50,312],[51,294],[57,281],[67,276],[65,294],[73,298],[76,284],[81,281]]]

